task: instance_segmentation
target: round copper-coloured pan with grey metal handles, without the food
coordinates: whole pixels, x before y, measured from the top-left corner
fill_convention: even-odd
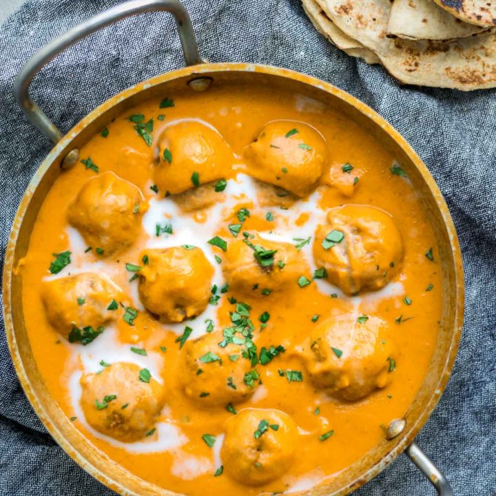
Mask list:
[[[165,10],[174,15],[183,46],[186,67],[167,72],[139,83],[106,101],[68,134],[63,134],[48,117],[30,100],[28,88],[34,75],[50,60],[72,43],[88,34],[132,14]],[[406,170],[422,198],[428,218],[439,244],[440,267],[443,280],[442,319],[436,353],[429,366],[422,387],[404,417],[389,425],[384,438],[369,453],[339,473],[331,482],[303,493],[307,496],[347,495],[378,475],[393,459],[406,452],[413,462],[443,496],[452,490],[440,470],[415,444],[415,435],[431,415],[455,361],[462,332],[464,309],[464,276],[462,256],[453,220],[433,177],[413,149],[383,118],[361,101],[311,76],[264,65],[245,63],[205,63],[198,54],[192,23],[177,0],[134,0],[106,10],[61,35],[35,54],[17,76],[15,94],[17,101],[30,121],[43,135],[54,143],[54,148],[41,163],[26,189],[14,219],[6,251],[3,271],[3,305],[6,333],[17,375],[34,410],[56,442],[82,467],[117,493],[126,496],[175,495],[163,488],[149,484],[132,475],[93,446],[66,417],[48,393],[37,364],[34,361],[23,319],[21,298],[22,277],[15,267],[25,256],[30,234],[39,207],[61,168],[72,167],[78,161],[78,149],[112,118],[134,105],[163,94],[176,91],[205,92],[209,85],[236,85],[250,83],[265,85],[273,90],[311,96],[353,118],[364,130],[391,150]]]

